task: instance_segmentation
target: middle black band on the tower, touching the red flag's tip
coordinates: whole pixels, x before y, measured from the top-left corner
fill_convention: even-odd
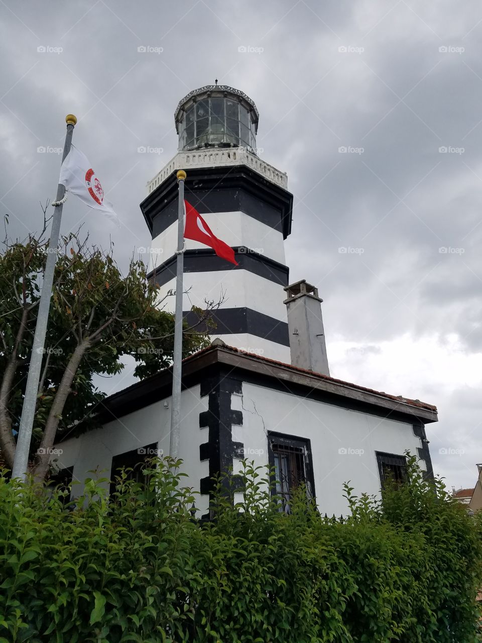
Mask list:
[[[238,265],[217,257],[214,250],[199,248],[184,251],[184,272],[185,273],[210,273],[220,270],[246,270],[253,275],[269,279],[275,284],[283,286],[289,283],[289,267],[274,261],[269,257],[246,248],[246,246],[234,246],[235,258]],[[168,258],[156,269],[148,274],[148,278],[155,278],[159,285],[167,284],[175,279],[176,257]]]

